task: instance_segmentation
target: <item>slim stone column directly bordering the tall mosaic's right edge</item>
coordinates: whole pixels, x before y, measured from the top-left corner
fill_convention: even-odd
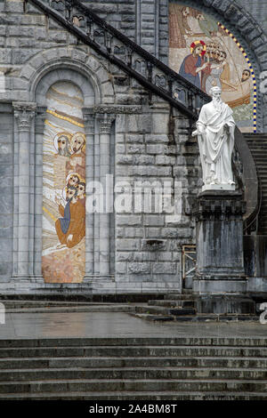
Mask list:
[[[94,124],[93,109],[83,109],[86,136],[86,185],[94,181]],[[85,277],[90,281],[94,273],[94,213],[86,212],[85,221]]]

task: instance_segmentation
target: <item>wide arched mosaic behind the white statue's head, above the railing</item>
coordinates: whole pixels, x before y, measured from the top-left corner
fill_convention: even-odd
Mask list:
[[[169,67],[207,94],[220,86],[240,131],[255,132],[255,73],[239,41],[220,22],[170,2]]]

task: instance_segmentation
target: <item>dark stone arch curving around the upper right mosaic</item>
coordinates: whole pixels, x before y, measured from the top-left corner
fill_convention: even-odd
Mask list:
[[[267,106],[267,95],[260,92],[260,74],[267,70],[267,36],[257,21],[245,8],[239,4],[233,4],[231,0],[165,0],[169,2],[184,4],[206,12],[216,20],[223,23],[231,33],[236,36],[244,50],[255,72],[257,83],[257,131],[267,132],[267,115],[264,108]],[[167,8],[168,15],[168,8]],[[160,34],[159,34],[160,36]],[[165,49],[165,48],[163,48]],[[163,53],[163,52],[162,52]]]

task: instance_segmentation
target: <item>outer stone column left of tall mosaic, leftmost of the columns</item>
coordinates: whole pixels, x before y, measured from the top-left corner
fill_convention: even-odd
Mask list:
[[[16,149],[16,175],[14,217],[13,273],[17,279],[29,277],[29,209],[30,209],[30,132],[32,119],[35,116],[36,103],[13,102],[14,117],[17,121],[15,134],[17,134]],[[15,141],[16,143],[16,141]]]

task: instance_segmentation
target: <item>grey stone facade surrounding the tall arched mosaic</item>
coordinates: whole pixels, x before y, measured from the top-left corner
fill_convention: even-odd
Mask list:
[[[225,14],[228,2],[222,3],[225,10],[223,5],[215,8],[218,2],[203,2],[205,7],[212,3],[217,15]],[[166,0],[101,0],[90,7],[167,63]],[[149,94],[32,4],[6,0],[0,12],[5,78],[0,92],[0,291],[181,292],[182,245],[196,240],[191,208],[201,186],[191,121],[177,109],[171,112],[165,100]],[[263,32],[255,34],[251,48],[264,68],[261,39]],[[85,279],[64,286],[44,284],[41,259],[44,97],[62,79],[77,84],[85,99],[86,181],[103,181],[111,173],[115,181],[130,184],[171,181],[173,194],[174,181],[182,186],[178,220],[168,213],[87,216]]]

